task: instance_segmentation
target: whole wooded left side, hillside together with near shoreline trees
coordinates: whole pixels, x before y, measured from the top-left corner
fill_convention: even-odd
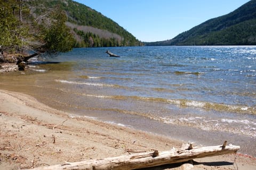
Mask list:
[[[24,70],[35,56],[73,47],[142,45],[113,20],[71,0],[0,1],[0,63]]]

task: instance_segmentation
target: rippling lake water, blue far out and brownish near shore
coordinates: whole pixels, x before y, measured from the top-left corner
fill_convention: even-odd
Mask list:
[[[72,116],[203,145],[228,140],[256,156],[256,46],[75,48],[47,61],[0,75],[0,87]]]

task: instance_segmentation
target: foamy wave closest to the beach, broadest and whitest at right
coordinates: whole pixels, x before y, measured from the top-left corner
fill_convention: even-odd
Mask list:
[[[93,95],[91,95],[93,96]],[[97,97],[97,95],[94,95]],[[110,96],[106,98],[111,98]],[[141,112],[134,110],[123,110],[118,108],[88,108],[91,110],[100,110],[100,111],[111,111],[117,112],[119,114],[125,115],[136,115],[145,117],[151,120],[156,120],[165,124],[173,124],[184,127],[193,127],[203,129],[205,131],[219,131],[219,132],[230,132],[235,134],[243,134],[252,137],[256,137],[255,133],[255,122],[250,120],[239,120],[239,119],[229,119],[229,118],[220,118],[220,119],[209,119],[208,116],[178,116],[178,115],[168,115],[168,116],[159,116],[157,114],[149,112]],[[108,122],[116,124],[115,122]],[[129,127],[125,124],[119,124],[121,126]]]

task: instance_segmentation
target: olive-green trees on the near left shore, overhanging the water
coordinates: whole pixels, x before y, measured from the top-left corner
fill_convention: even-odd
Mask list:
[[[0,50],[1,53],[20,53],[34,50],[36,53],[57,54],[70,51],[74,38],[65,25],[67,16],[59,7],[51,13],[48,25],[33,21],[28,7],[22,0],[0,1]],[[30,15],[22,21],[22,12]],[[25,59],[27,60],[27,59]]]

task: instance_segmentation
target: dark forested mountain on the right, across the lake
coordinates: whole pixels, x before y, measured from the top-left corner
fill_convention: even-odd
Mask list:
[[[145,45],[256,45],[256,0],[167,41]]]

